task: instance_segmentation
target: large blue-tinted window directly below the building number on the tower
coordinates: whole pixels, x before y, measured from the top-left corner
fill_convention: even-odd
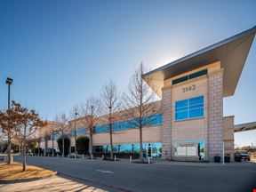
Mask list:
[[[175,120],[204,116],[204,96],[175,102]]]

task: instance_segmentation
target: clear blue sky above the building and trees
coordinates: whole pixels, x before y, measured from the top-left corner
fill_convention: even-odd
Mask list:
[[[47,119],[99,95],[109,77],[120,92],[141,61],[160,67],[256,25],[256,1],[0,1],[0,108],[12,100]],[[224,115],[256,121],[256,40]],[[256,138],[256,132],[254,134]],[[256,141],[256,140],[255,140]]]

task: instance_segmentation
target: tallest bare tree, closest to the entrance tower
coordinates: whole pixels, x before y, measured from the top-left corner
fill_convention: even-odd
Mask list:
[[[134,71],[128,86],[128,94],[124,93],[124,108],[126,116],[132,121],[129,121],[134,127],[140,130],[140,161],[143,162],[142,148],[142,128],[148,125],[148,116],[152,114],[155,106],[152,103],[156,100],[155,93],[149,88],[148,84],[143,80],[142,75],[145,73],[143,64],[140,68]],[[148,77],[147,82],[151,81]]]

